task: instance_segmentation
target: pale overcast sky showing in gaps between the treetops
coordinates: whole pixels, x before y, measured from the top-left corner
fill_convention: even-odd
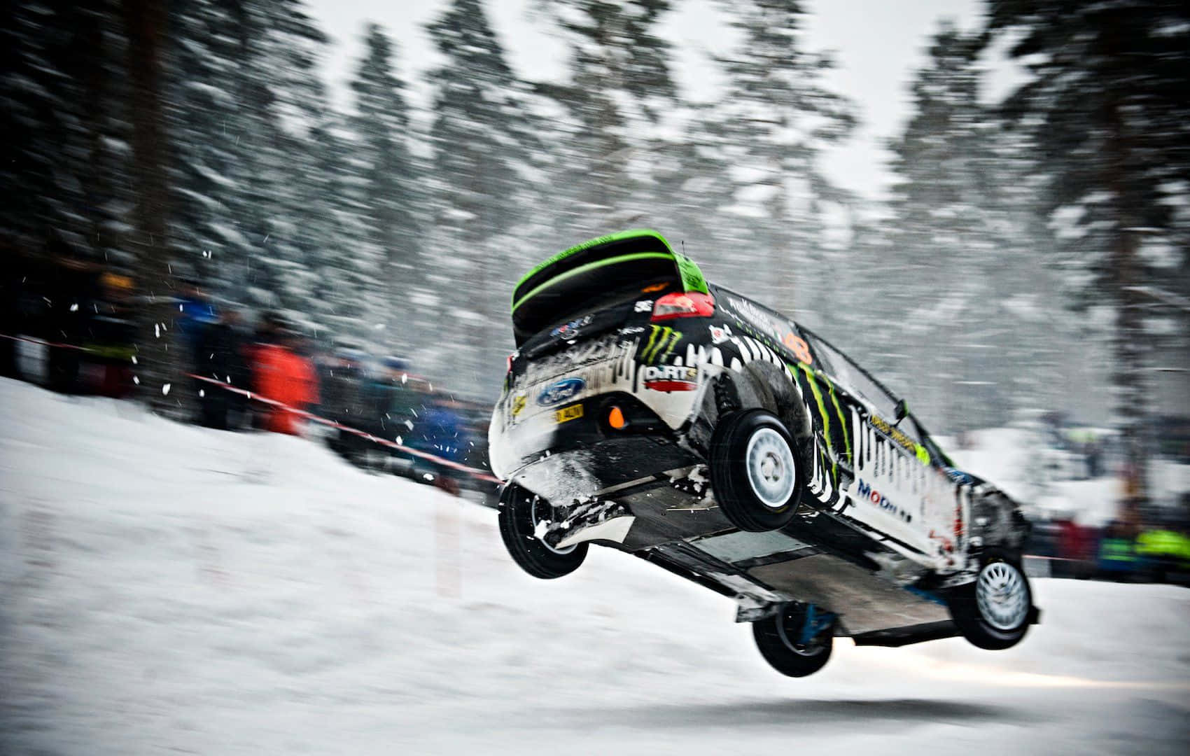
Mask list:
[[[446,0],[307,0],[333,45],[327,80],[337,100],[346,105],[346,79],[362,50],[364,23],[375,20],[399,43],[397,65],[406,81],[436,62],[425,32],[446,6]],[[491,21],[516,70],[531,79],[549,79],[562,71],[564,50],[543,31],[533,13],[534,0],[487,0]],[[688,96],[709,100],[718,95],[718,79],[706,63],[706,52],[726,54],[735,39],[713,0],[675,0],[662,32],[677,48],[675,74]],[[833,151],[826,169],[834,180],[860,194],[884,194],[888,171],[881,142],[894,136],[908,117],[907,87],[915,68],[925,62],[928,37],[938,20],[951,18],[965,29],[978,24],[979,0],[807,0],[810,49],[833,50],[838,69],[829,85],[852,98],[862,129],[846,145]],[[997,76],[1007,86],[1010,74]],[[414,98],[425,96],[413,92]]]

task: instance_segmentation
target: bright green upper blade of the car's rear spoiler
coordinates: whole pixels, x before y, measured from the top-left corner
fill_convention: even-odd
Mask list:
[[[525,274],[513,289],[513,320],[516,320],[516,311],[521,305],[556,283],[601,267],[649,260],[669,261],[683,290],[709,293],[707,280],[694,261],[675,252],[660,233],[650,229],[633,229],[576,244]]]

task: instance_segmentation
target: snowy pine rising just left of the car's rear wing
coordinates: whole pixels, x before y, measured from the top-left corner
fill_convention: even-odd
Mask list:
[[[511,349],[506,293],[518,274],[511,237],[533,206],[525,170],[533,161],[525,86],[478,0],[453,0],[427,31],[445,58],[428,74],[433,168],[426,186],[434,205],[433,246],[441,250],[431,273],[439,280],[430,308],[440,313],[439,323],[459,326],[441,331],[453,337],[437,339],[436,361],[451,355],[453,375],[466,388],[486,389],[496,385]]]

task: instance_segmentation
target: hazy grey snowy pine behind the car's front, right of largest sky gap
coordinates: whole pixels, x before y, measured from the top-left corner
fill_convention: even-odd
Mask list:
[[[915,406],[948,429],[1003,424],[1016,407],[1063,399],[1052,352],[1069,329],[1039,255],[1032,145],[979,102],[985,42],[950,24],[933,38],[913,117],[889,145],[900,177],[890,243],[869,267],[881,282],[870,306],[906,336],[906,356],[882,371],[903,375]],[[947,286],[937,286],[940,271]]]

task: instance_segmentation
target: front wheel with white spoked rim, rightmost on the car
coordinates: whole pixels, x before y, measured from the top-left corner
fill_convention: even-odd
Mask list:
[[[1033,589],[1019,560],[985,551],[973,582],[947,596],[954,625],[972,645],[989,651],[1021,642],[1033,621]]]

